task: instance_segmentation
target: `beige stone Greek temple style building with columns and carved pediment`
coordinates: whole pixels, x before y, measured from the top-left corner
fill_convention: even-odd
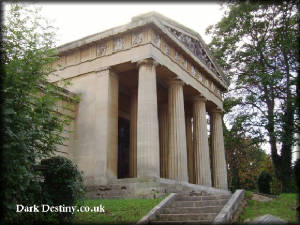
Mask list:
[[[62,151],[88,187],[150,178],[227,190],[228,82],[198,33],[152,12],[58,54],[50,81],[80,94]]]

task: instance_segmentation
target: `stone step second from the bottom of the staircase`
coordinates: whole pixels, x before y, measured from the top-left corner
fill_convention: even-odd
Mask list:
[[[168,207],[162,210],[163,214],[183,214],[183,213],[218,213],[223,206],[204,207]]]

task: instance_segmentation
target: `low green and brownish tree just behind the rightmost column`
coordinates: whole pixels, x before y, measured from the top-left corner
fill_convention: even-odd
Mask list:
[[[234,98],[225,99],[225,115],[237,104],[239,101]],[[257,177],[267,158],[267,154],[259,146],[261,140],[246,136],[246,130],[242,126],[245,120],[245,116],[235,118],[230,129],[226,124],[223,125],[228,181],[232,191],[241,188],[255,190]]]

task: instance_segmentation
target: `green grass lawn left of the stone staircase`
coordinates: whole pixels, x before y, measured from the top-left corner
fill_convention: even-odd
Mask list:
[[[136,223],[163,199],[87,199],[78,207],[101,204],[105,213],[76,212],[74,223]]]

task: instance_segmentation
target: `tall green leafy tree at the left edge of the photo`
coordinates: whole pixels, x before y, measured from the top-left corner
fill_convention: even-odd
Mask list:
[[[3,24],[3,152],[1,164],[4,220],[16,222],[16,204],[41,203],[40,172],[35,165],[51,156],[70,121],[53,112],[59,88],[47,82],[55,60],[54,30],[38,9],[12,4]]]

